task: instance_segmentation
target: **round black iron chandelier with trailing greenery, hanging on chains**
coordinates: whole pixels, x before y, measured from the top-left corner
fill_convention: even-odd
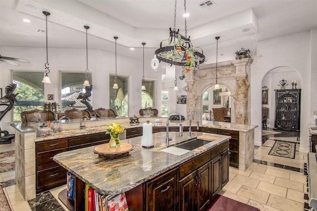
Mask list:
[[[169,38],[167,39],[167,45],[162,46],[163,40],[160,42],[159,49],[155,51],[155,58],[159,61],[165,62],[176,66],[183,66],[185,70],[189,71],[189,68],[196,67],[199,69],[199,65],[205,62],[205,55],[203,50],[195,49],[190,41],[190,36],[187,38],[187,23],[185,15],[185,36],[179,33],[179,29],[176,31],[176,0],[174,10],[174,28],[169,28]],[[184,8],[186,14],[186,0],[184,0]]]

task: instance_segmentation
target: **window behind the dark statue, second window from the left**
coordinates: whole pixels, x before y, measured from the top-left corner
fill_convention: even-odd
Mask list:
[[[78,109],[87,109],[87,106],[80,102],[81,99],[77,99],[78,95],[86,93],[85,87],[83,86],[85,80],[85,73],[74,73],[74,72],[60,72],[60,84],[61,84],[61,110],[64,111],[66,107],[71,104]],[[89,82],[93,84],[92,74],[89,73]],[[93,103],[93,94],[88,97],[89,103]]]

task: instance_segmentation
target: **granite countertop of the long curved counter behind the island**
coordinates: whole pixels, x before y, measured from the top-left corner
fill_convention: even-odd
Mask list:
[[[142,124],[146,122],[146,120],[150,120],[152,122],[153,127],[166,127],[166,118],[159,118],[160,120],[165,120],[165,122],[160,122],[156,124],[155,118],[141,118],[139,124],[130,124],[128,118],[121,119],[109,119],[109,120],[91,120],[87,121],[86,127],[83,129],[79,129],[79,121],[67,122],[67,123],[59,123],[57,127],[63,127],[61,132],[53,133],[51,129],[48,127],[40,128],[40,123],[14,123],[11,124],[16,130],[25,133],[25,132],[39,132],[42,130],[48,130],[49,135],[47,136],[37,136],[35,141],[44,141],[44,140],[53,140],[58,138],[67,138],[79,135],[88,135],[100,132],[106,132],[105,126],[111,122],[118,122],[125,128],[134,128],[134,127],[142,127]],[[178,127],[179,121],[170,121],[169,127]],[[182,126],[188,127],[189,121],[182,121]],[[192,121],[192,127],[196,127],[196,121]],[[211,121],[201,121],[200,127],[210,127],[210,128],[219,128],[219,129],[227,129],[227,130],[236,130],[236,131],[249,131],[258,126],[255,125],[239,125],[234,123],[224,123],[224,122],[211,122]]]

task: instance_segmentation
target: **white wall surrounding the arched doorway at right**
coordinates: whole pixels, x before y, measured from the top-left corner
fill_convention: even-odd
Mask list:
[[[311,118],[311,32],[258,42],[257,55],[251,65],[251,124],[262,125],[262,80],[267,72],[277,67],[289,67],[301,76],[302,112],[300,151],[307,152],[309,146],[308,124]],[[316,71],[316,70],[315,70]],[[281,79],[280,79],[281,80]],[[292,80],[292,79],[290,79]],[[272,83],[272,85],[274,85]],[[256,128],[255,144],[262,145],[261,127]]]

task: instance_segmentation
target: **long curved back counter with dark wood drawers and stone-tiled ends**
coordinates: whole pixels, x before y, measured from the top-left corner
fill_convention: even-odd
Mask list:
[[[108,142],[110,137],[105,134],[105,126],[112,122],[120,123],[127,129],[127,138],[142,136],[142,124],[147,120],[153,123],[154,133],[166,131],[166,118],[141,118],[140,124],[132,125],[127,118],[96,119],[86,121],[86,127],[82,129],[78,120],[67,121],[52,124],[52,128],[62,128],[55,133],[49,128],[41,128],[40,123],[11,124],[15,128],[16,186],[24,199],[30,200],[36,197],[36,193],[65,184],[66,171],[53,161],[54,155]],[[158,125],[156,120],[160,121]],[[178,126],[179,121],[172,121],[169,131],[177,131]],[[189,122],[182,121],[182,126],[184,131],[188,131]],[[233,166],[232,163],[239,170],[248,169],[254,158],[254,128],[258,126],[208,121],[200,122],[200,126],[199,131],[202,132],[231,136],[230,166]],[[197,131],[194,122],[192,129]],[[185,136],[189,138],[189,134],[184,132]]]

